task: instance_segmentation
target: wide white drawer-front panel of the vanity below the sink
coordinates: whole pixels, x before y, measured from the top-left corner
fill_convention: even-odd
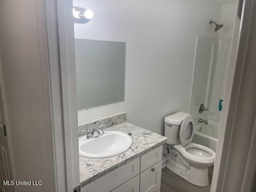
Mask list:
[[[137,158],[82,187],[81,192],[109,192],[135,177],[139,172],[140,158]]]

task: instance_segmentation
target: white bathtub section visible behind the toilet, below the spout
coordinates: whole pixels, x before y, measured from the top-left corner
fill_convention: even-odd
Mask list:
[[[211,122],[210,120],[208,122],[208,125],[202,123],[195,125],[196,131],[192,142],[209,147],[210,149],[216,151],[219,124]]]

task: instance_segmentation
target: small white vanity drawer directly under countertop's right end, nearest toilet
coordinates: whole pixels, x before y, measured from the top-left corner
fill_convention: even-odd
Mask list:
[[[140,158],[140,172],[145,171],[150,166],[155,165],[157,162],[161,161],[162,151],[163,151],[163,146],[160,146],[142,155]]]

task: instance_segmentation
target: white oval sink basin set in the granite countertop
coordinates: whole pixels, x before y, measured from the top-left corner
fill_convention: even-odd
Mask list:
[[[129,135],[119,131],[105,131],[100,137],[79,139],[79,155],[88,158],[112,157],[124,153],[132,146]]]

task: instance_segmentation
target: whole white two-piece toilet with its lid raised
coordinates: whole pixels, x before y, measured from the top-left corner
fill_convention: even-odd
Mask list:
[[[214,164],[215,152],[191,142],[194,136],[194,119],[185,112],[164,118],[165,137],[170,156],[167,168],[196,186],[209,185],[208,167]]]

